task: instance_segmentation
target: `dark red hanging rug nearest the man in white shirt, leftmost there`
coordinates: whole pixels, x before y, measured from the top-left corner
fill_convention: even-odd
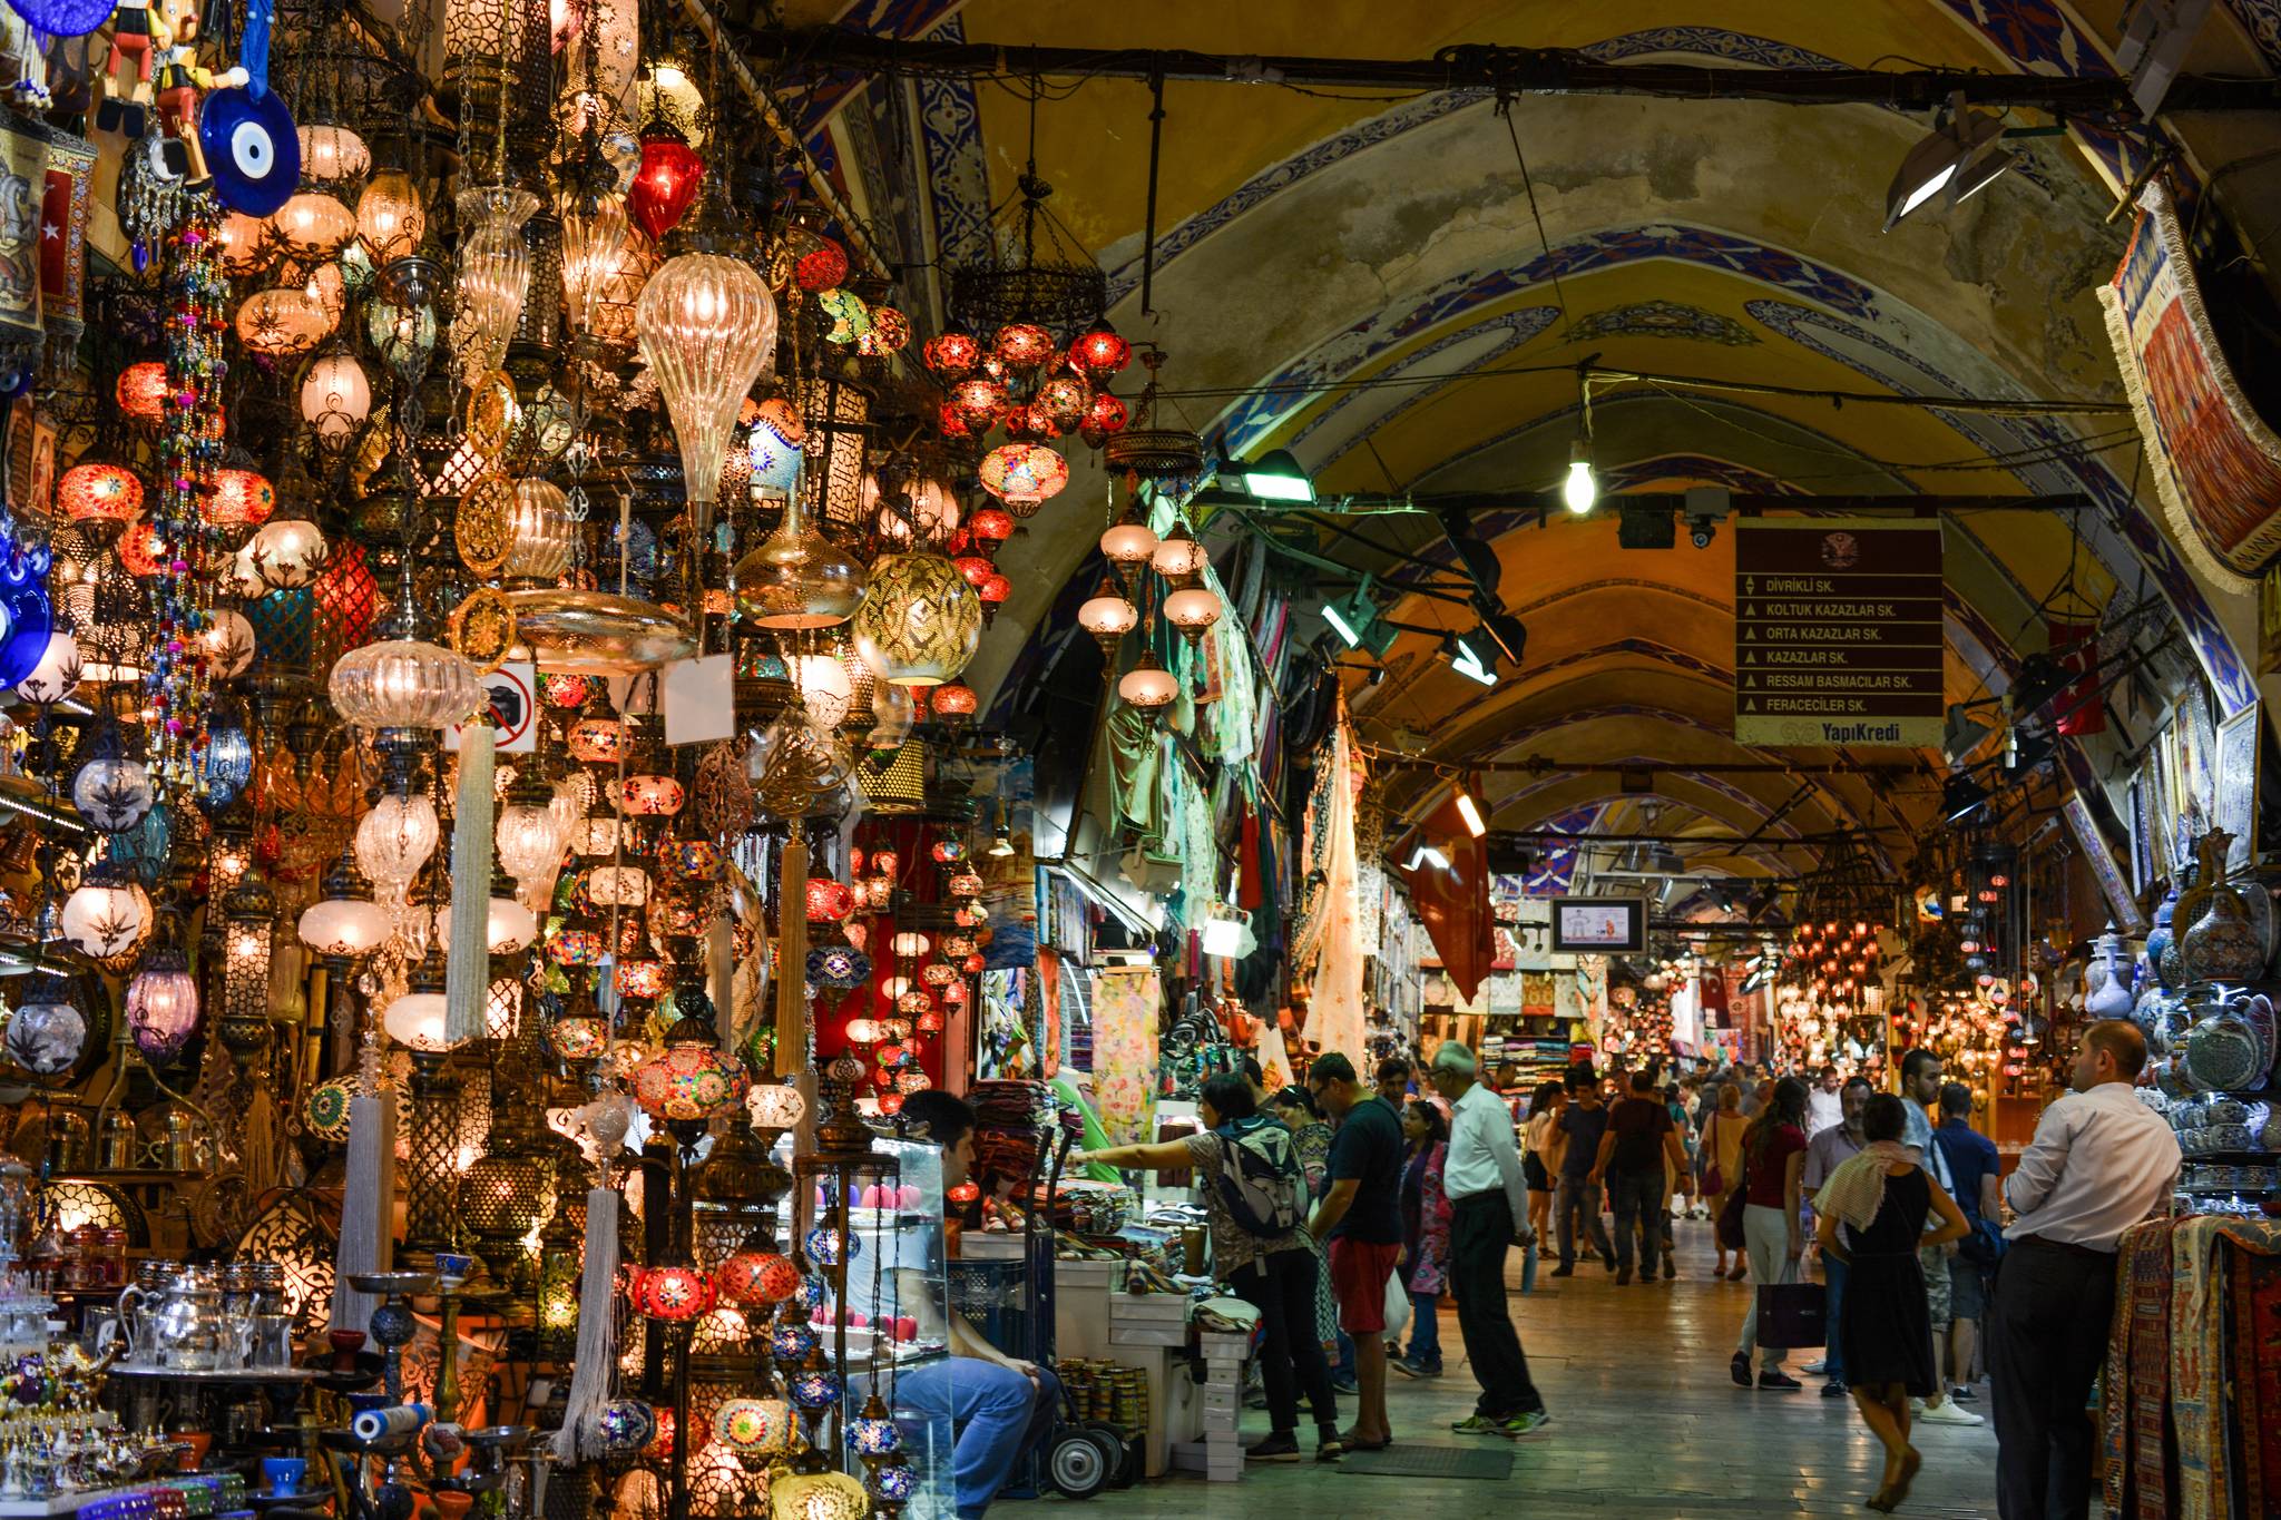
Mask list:
[[[2108,1333],[2105,1509],[2124,1520],[2162,1520],[2176,1509],[2169,1436],[2169,1219],[2149,1219],[2121,1240],[2114,1329]]]

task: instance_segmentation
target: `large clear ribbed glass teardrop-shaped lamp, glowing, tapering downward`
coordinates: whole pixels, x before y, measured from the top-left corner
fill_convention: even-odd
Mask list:
[[[634,333],[673,417],[682,481],[703,538],[737,412],[776,362],[776,299],[744,260],[682,253],[641,287]]]

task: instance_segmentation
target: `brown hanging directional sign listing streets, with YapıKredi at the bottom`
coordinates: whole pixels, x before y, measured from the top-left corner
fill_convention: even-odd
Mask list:
[[[1738,520],[1736,741],[1918,747],[1941,732],[1939,520]]]

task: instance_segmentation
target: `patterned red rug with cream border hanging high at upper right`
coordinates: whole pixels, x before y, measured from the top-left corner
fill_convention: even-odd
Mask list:
[[[2108,337],[2146,442],[2146,465],[2187,561],[2233,593],[2281,551],[2281,435],[2217,346],[2185,228],[2149,185],[2114,283]]]

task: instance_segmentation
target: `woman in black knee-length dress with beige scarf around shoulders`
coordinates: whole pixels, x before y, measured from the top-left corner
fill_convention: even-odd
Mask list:
[[[1868,1144],[1848,1158],[1813,1199],[1813,1237],[1845,1262],[1845,1301],[1836,1333],[1845,1351],[1845,1383],[1861,1424],[1884,1445],[1884,1486],[1870,1509],[1893,1511],[1909,1497],[1923,1458],[1909,1445],[1909,1397],[1939,1392],[1932,1360],[1932,1317],[1925,1313],[1925,1274],[1918,1247],[1966,1235],[1964,1212],[1900,1144],[1907,1110],[1880,1092],[1861,1110]],[[1925,1215],[1941,1221],[1930,1233]]]

